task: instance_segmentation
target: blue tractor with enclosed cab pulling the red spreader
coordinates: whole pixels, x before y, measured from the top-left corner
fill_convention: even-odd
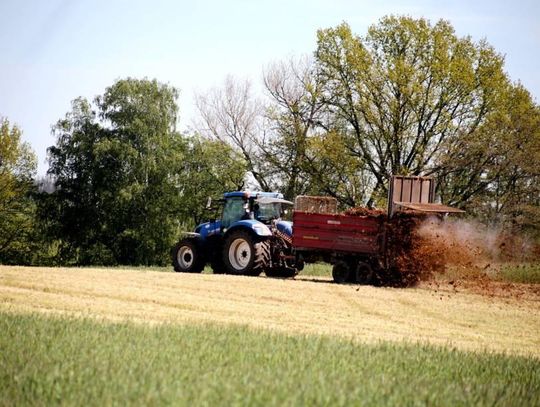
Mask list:
[[[279,193],[243,191],[227,192],[219,202],[221,219],[200,224],[173,248],[175,271],[200,273],[209,263],[214,273],[297,274],[302,267],[292,250],[292,222],[282,220],[284,206],[292,202]],[[210,199],[207,208],[212,208]]]

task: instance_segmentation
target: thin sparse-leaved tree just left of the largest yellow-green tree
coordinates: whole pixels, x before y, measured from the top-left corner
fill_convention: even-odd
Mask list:
[[[266,138],[259,146],[278,180],[273,184],[293,199],[299,194],[330,195],[344,205],[362,202],[369,184],[362,163],[345,149],[343,123],[324,100],[324,82],[311,58],[291,58],[269,66],[264,85]]]

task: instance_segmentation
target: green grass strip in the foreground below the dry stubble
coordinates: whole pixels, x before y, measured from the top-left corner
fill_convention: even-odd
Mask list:
[[[6,405],[537,405],[534,358],[3,313]]]

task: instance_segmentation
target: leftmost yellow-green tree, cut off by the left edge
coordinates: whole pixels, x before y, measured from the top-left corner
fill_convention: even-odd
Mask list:
[[[29,264],[34,245],[32,179],[37,160],[21,131],[0,118],[0,263]]]

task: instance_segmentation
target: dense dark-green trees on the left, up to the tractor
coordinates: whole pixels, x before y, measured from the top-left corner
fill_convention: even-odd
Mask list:
[[[74,100],[53,127],[52,187],[32,182],[35,156],[3,120],[2,146],[14,159],[0,175],[0,260],[166,264],[181,230],[202,219],[206,197],[242,188],[245,177],[232,148],[176,130],[177,96],[155,80],[125,79],[93,103]]]

